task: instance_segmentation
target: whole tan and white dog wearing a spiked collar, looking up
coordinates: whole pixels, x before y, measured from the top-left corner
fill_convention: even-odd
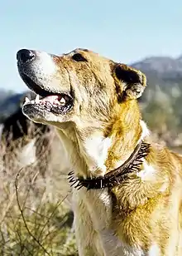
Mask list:
[[[81,48],[22,49],[17,67],[36,93],[24,115],[55,126],[69,157],[79,255],[182,255],[182,157],[141,118],[145,74]]]

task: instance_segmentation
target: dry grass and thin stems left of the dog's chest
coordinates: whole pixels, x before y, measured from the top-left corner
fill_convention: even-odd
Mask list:
[[[36,146],[43,147],[42,136],[35,135]],[[27,138],[8,149],[1,145],[0,255],[78,255],[66,158],[55,133],[50,131],[48,136],[48,145],[39,150],[34,162],[30,156],[32,145],[24,155],[26,162],[20,162]]]

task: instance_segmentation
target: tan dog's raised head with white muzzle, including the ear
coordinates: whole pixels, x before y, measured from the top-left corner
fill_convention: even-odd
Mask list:
[[[22,49],[17,52],[17,66],[37,95],[35,101],[26,99],[23,113],[32,121],[57,127],[68,122],[90,126],[93,121],[99,126],[146,87],[141,71],[85,49],[61,56]]]

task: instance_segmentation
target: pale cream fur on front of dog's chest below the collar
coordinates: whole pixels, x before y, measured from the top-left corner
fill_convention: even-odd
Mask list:
[[[74,190],[73,202],[74,227],[76,234],[79,234],[77,243],[82,252],[80,255],[145,255],[141,249],[133,249],[122,243],[112,229],[113,204],[108,189]]]

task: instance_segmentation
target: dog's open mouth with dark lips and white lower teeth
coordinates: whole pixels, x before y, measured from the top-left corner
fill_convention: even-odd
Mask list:
[[[57,93],[47,91],[38,86],[35,81],[31,80],[29,76],[21,74],[22,80],[26,85],[36,93],[36,98],[34,100],[29,100],[28,97],[25,98],[23,104],[23,111],[26,109],[34,108],[38,111],[48,111],[53,114],[66,114],[73,107],[73,96],[69,93]]]

